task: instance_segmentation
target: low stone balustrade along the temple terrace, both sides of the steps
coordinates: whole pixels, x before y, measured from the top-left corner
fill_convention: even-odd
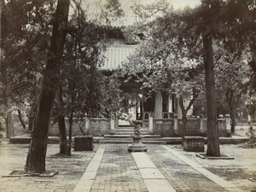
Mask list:
[[[143,128],[148,128],[148,133],[160,134],[162,137],[181,136],[181,128],[183,122],[182,120],[177,119],[177,114],[173,114],[172,118],[161,119],[155,119],[153,112],[149,111],[146,114],[148,114],[148,119],[144,119]],[[81,128],[83,129],[84,133],[90,133],[93,136],[102,136],[104,134],[114,134],[115,127],[118,127],[117,120],[91,118],[90,120],[86,121],[84,126]],[[221,137],[231,136],[230,115],[220,115],[218,117],[218,134]],[[58,135],[57,125],[49,129],[49,135]],[[73,136],[79,135],[82,135],[80,125],[79,123],[73,123]],[[204,119],[203,116],[188,118],[186,136],[207,136],[207,119]]]

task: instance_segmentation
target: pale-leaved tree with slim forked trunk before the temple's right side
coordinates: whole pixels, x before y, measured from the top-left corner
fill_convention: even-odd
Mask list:
[[[151,17],[155,13],[155,19],[126,29],[126,34],[142,33],[143,37],[136,54],[123,65],[123,73],[135,77],[137,82],[142,82],[142,88],[177,96],[182,110],[184,136],[187,112],[204,90],[201,37],[183,37],[183,28],[186,27],[183,19],[190,10],[181,15],[180,12],[159,3],[137,11],[143,13],[143,18],[148,15]],[[186,106],[184,103],[187,100],[189,104]]]

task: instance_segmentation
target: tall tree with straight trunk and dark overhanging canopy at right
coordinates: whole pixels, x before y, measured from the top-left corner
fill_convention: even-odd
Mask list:
[[[253,13],[255,13],[255,1],[202,1],[200,8],[187,9],[174,14],[172,10],[166,9],[167,6],[155,6],[148,8],[139,8],[137,13],[143,20],[143,24],[137,25],[133,34],[155,30],[154,20],[152,18],[166,18],[162,20],[162,37],[168,37],[168,40],[176,40],[180,48],[189,45],[189,42],[195,43],[194,47],[189,49],[191,58],[203,57],[205,68],[205,82],[207,88],[207,130],[208,130],[208,148],[207,155],[220,155],[218,143],[218,128],[216,125],[217,110],[215,96],[215,76],[214,65],[216,57],[213,45],[221,45],[225,53],[235,54],[237,58],[244,54],[244,50],[252,47],[252,36],[255,22]],[[142,7],[142,6],[141,6]],[[157,15],[151,16],[157,13]],[[148,19],[149,18],[149,19]],[[168,18],[168,20],[167,20]],[[179,20],[179,23],[176,23]],[[169,35],[169,31],[177,31]],[[148,33],[145,32],[147,35]],[[169,36],[168,36],[169,35]],[[163,38],[162,38],[163,39]],[[161,41],[160,41],[161,42]],[[219,43],[220,42],[220,43]],[[202,49],[201,49],[202,48]],[[177,49],[178,50],[178,49]]]

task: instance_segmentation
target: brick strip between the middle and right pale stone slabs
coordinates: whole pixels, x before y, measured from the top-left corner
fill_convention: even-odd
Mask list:
[[[177,191],[225,191],[162,147],[150,145],[148,156]]]

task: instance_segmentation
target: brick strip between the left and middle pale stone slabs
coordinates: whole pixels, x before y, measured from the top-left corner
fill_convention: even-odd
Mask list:
[[[148,191],[127,145],[108,144],[91,192]]]

